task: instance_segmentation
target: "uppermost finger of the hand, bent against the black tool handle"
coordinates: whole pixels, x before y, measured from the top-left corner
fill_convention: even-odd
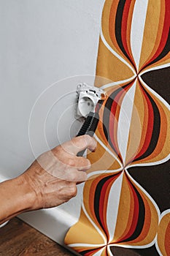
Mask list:
[[[78,152],[86,148],[88,148],[90,151],[95,151],[96,145],[96,140],[91,138],[89,135],[82,135],[63,143],[62,147],[64,151],[68,152],[69,154],[77,155]]]

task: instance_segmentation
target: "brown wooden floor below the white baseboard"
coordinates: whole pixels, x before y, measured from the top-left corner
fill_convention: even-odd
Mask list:
[[[18,255],[73,256],[74,254],[25,222],[14,218],[0,228],[0,256]]]

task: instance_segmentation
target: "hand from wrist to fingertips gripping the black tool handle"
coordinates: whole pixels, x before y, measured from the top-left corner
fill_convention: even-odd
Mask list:
[[[90,161],[77,157],[88,148],[94,151],[96,141],[88,135],[73,138],[42,154],[20,178],[34,192],[31,210],[50,208],[77,195],[77,183],[85,181]]]

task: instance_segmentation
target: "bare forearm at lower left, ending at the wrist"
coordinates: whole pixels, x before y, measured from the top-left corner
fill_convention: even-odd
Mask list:
[[[0,184],[0,224],[24,212],[34,205],[34,192],[22,176]]]

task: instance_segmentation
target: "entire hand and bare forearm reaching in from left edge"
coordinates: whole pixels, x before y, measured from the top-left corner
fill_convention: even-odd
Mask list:
[[[88,135],[73,138],[42,154],[17,178],[0,184],[0,224],[25,211],[59,206],[77,195],[77,183],[85,181],[90,161],[77,157],[85,148],[94,151]]]

